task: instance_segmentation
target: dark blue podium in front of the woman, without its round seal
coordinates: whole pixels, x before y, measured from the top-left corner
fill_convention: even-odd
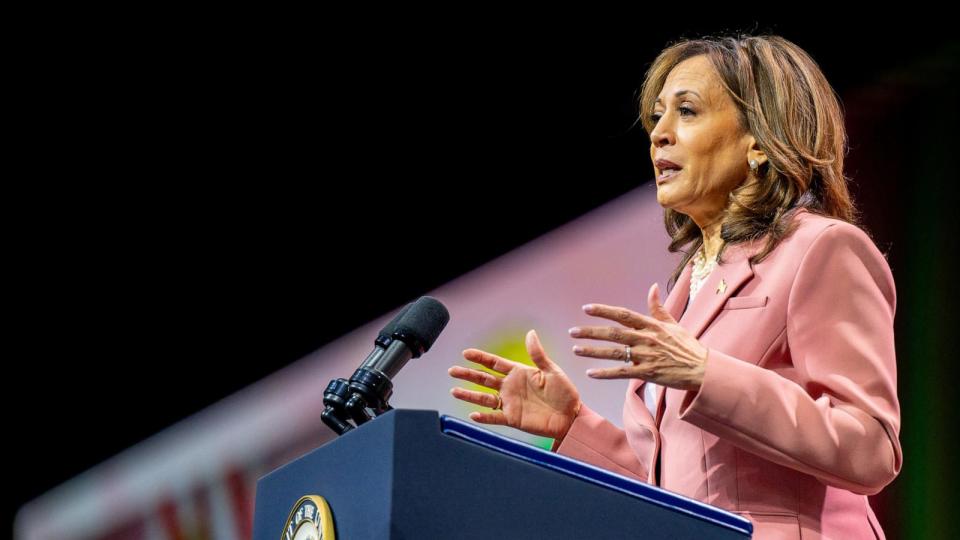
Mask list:
[[[735,514],[436,411],[390,411],[261,478],[254,539],[286,538],[306,495],[326,500],[338,540],[704,540],[753,531]]]

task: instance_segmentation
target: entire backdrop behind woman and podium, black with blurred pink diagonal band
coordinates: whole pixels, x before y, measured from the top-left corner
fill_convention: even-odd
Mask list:
[[[585,297],[571,318],[595,294],[645,310],[676,259],[636,91],[669,42],[742,32],[796,42],[842,100],[847,174],[898,290],[905,461],[871,503],[888,537],[950,537],[952,23],[684,11],[17,19],[8,523],[22,510],[24,538],[68,517],[90,520],[76,538],[243,537],[257,476],[330,437],[311,407],[406,302],[435,294],[451,330],[464,323],[397,399],[464,417],[440,397],[462,348],[524,356],[540,325],[567,350],[567,312],[531,300]],[[508,294],[537,279],[551,287]],[[611,395],[595,399],[616,410]]]

